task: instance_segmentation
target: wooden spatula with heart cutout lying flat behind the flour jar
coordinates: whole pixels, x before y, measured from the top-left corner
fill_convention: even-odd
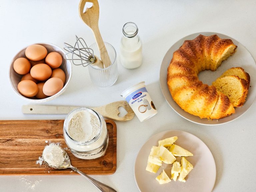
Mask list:
[[[127,114],[124,117],[119,117],[119,107],[123,107]],[[22,113],[24,114],[68,114],[75,106],[50,106],[50,105],[23,105]],[[117,101],[103,105],[101,107],[90,107],[100,113],[103,117],[116,121],[129,121],[134,117],[134,112],[126,101]]]

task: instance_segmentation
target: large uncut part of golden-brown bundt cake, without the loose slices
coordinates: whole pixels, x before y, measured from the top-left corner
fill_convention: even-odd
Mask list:
[[[167,84],[173,100],[186,112],[200,118],[220,119],[235,112],[229,99],[215,86],[203,84],[198,73],[216,70],[237,46],[231,39],[199,35],[186,40],[173,53]]]

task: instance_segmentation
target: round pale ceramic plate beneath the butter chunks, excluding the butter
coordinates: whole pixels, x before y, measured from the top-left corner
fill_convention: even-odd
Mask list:
[[[160,185],[155,179],[164,169],[170,175],[172,165],[163,163],[157,173],[146,171],[148,155],[158,140],[178,136],[176,144],[189,150],[194,156],[186,157],[193,170],[185,177],[186,182],[173,181]],[[176,160],[180,162],[180,157]],[[198,137],[185,131],[164,131],[151,137],[140,149],[134,166],[134,176],[141,192],[211,192],[216,179],[216,165],[211,151]]]

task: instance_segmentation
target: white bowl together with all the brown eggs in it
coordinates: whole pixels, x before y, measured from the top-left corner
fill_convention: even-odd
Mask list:
[[[12,59],[9,80],[13,90],[31,102],[50,101],[61,95],[71,79],[72,65],[66,53],[51,43],[23,48]]]

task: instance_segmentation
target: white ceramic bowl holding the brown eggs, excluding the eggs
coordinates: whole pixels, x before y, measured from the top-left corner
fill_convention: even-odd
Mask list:
[[[64,55],[66,54],[60,47],[54,45],[54,44],[51,44],[51,43],[34,43],[34,44],[39,44],[39,45],[43,45],[48,53],[50,52],[58,52],[59,54],[61,54],[62,58],[63,58],[63,61],[62,61],[62,64],[60,66],[60,68],[65,72],[65,75],[66,75],[66,82],[64,84],[64,87],[58,92],[56,93],[55,95],[53,96],[50,96],[50,97],[47,97],[45,99],[37,99],[36,97],[31,97],[31,98],[28,98],[28,97],[24,97],[23,95],[20,94],[20,92],[18,91],[18,83],[20,82],[21,80],[21,77],[22,75],[16,73],[13,69],[13,63],[14,61],[19,58],[19,57],[25,57],[25,50],[26,48],[28,47],[24,47],[22,50],[20,50],[12,59],[11,63],[10,63],[10,66],[9,66],[9,80],[10,80],[10,83],[11,83],[11,86],[13,88],[13,90],[15,91],[15,93],[17,93],[20,97],[24,98],[25,100],[27,101],[30,101],[30,102],[37,102],[37,103],[41,103],[41,102],[46,102],[46,101],[50,101],[50,100],[53,100],[54,98],[60,96],[67,88],[68,84],[69,84],[69,81],[71,79],[71,74],[72,74],[72,65],[70,63],[70,61],[64,59]]]

